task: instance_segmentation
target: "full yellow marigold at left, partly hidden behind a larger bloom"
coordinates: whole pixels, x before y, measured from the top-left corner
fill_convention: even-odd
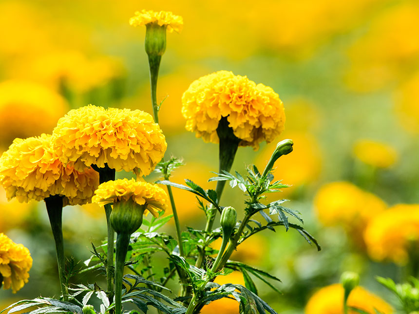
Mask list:
[[[78,172],[64,166],[52,146],[51,135],[17,138],[0,158],[0,184],[10,200],[41,201],[50,195],[64,196],[63,204],[90,202],[99,176],[92,168]]]

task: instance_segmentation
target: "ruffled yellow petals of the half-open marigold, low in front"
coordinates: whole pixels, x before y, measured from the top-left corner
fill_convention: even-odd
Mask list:
[[[168,203],[167,194],[161,187],[134,179],[118,179],[102,183],[95,191],[92,202],[105,205],[130,200],[139,205],[147,203],[147,210],[153,215],[155,215],[154,210],[166,210]]]

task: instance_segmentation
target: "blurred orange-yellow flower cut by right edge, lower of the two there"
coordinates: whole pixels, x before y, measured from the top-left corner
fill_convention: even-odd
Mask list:
[[[365,228],[368,254],[375,260],[404,265],[419,241],[419,205],[398,204],[376,215]]]

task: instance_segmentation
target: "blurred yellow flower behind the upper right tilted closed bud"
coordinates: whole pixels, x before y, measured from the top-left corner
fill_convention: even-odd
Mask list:
[[[269,198],[290,197],[298,188],[315,182],[322,170],[322,153],[314,136],[309,133],[287,132],[284,138],[292,139],[293,151],[276,161],[272,173],[274,180],[282,180],[282,183],[292,186],[282,189],[281,194],[269,194]],[[257,155],[255,164],[260,171],[265,168],[274,150],[274,145],[267,145]]]

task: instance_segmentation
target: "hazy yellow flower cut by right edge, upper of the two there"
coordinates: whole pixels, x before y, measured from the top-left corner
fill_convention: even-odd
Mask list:
[[[404,82],[395,92],[395,111],[402,128],[419,133],[419,73]]]

